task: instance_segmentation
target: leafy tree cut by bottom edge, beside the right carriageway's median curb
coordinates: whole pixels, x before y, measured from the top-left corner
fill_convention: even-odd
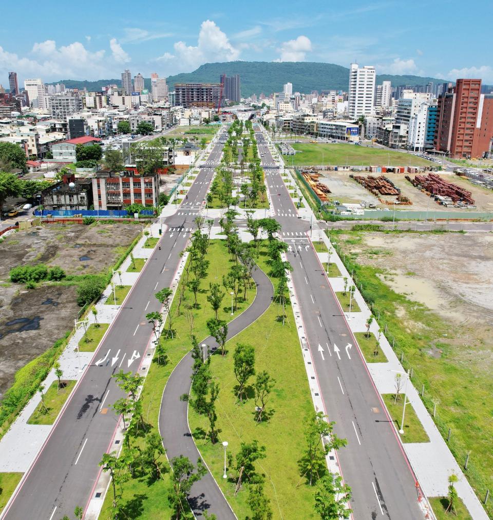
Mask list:
[[[349,500],[351,488],[343,484],[339,475],[331,473],[319,480],[315,491],[315,511],[322,520],[347,518],[351,513],[346,507]]]

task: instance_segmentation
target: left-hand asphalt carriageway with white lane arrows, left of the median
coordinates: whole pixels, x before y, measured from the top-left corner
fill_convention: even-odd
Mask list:
[[[221,151],[216,145],[209,159],[219,162]],[[161,250],[150,250],[137,283],[2,518],[55,520],[71,517],[75,506],[89,503],[103,453],[117,448],[113,437],[120,418],[111,404],[123,394],[112,375],[140,367],[153,336],[145,315],[160,309],[154,294],[172,285],[212,175],[211,168],[201,168],[180,211],[165,219]]]

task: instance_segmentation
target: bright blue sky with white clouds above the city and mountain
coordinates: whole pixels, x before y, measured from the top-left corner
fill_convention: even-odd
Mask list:
[[[218,61],[318,61],[374,65],[378,74],[414,74],[493,84],[493,3],[472,0],[360,2],[119,2],[27,0],[0,27],[0,84],[27,77],[168,76]],[[70,7],[68,7],[70,6]]]

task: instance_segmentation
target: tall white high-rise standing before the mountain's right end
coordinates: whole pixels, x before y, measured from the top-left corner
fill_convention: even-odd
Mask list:
[[[351,63],[349,69],[348,112],[356,119],[373,111],[375,99],[375,67]]]

